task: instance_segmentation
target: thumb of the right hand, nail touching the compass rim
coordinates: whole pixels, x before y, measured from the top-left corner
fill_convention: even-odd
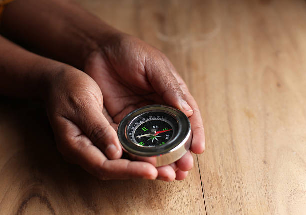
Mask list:
[[[193,110],[185,100],[183,91],[168,66],[168,61],[162,54],[154,59],[148,58],[145,61],[147,79],[168,105],[182,110],[187,116],[191,116]]]

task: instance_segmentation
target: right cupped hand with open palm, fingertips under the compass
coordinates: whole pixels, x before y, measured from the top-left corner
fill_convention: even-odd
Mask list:
[[[118,33],[100,42],[99,48],[88,56],[84,70],[100,87],[107,120],[114,128],[136,108],[167,104],[189,117],[193,134],[190,150],[196,154],[204,151],[205,135],[198,105],[160,51],[135,37]],[[117,144],[114,130],[109,136]],[[145,160],[154,164],[152,158]],[[188,151],[175,163],[158,167],[158,179],[182,180],[192,167],[193,157]]]

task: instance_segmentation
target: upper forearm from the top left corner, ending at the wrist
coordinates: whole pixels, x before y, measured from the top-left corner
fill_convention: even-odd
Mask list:
[[[79,69],[99,48],[101,37],[115,31],[77,4],[62,0],[16,0],[5,8],[1,24],[6,37]]]

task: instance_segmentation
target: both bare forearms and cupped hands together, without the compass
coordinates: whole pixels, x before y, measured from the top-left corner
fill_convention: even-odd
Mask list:
[[[159,50],[62,0],[14,1],[4,10],[1,32],[57,60],[0,37],[0,93],[41,98],[68,161],[100,179],[184,179],[193,167],[190,151],[157,168],[154,158],[121,158],[118,123],[135,108],[156,103],[182,110],[191,122],[190,150],[204,151],[198,106]]]

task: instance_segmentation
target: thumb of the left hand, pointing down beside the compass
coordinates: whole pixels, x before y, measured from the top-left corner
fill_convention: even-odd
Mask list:
[[[108,159],[121,157],[122,148],[117,133],[98,105],[95,103],[80,105],[78,112],[71,116],[71,120],[81,128]]]

